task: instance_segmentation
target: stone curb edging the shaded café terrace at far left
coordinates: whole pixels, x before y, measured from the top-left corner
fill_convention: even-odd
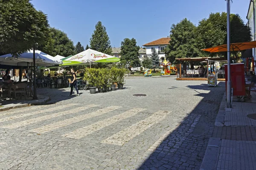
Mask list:
[[[20,105],[15,105],[15,106],[9,106],[9,107],[3,107],[3,108],[0,108],[0,112],[1,111],[7,111],[7,110],[10,110],[10,109],[15,109],[15,108],[24,108],[24,107],[27,107],[27,106],[31,106],[31,105],[42,105],[48,101],[50,101],[50,98],[48,96],[43,96],[43,95],[38,95],[40,96],[41,99],[38,99],[38,100],[32,100],[32,101],[28,101],[28,103],[25,103],[25,104],[20,104]]]

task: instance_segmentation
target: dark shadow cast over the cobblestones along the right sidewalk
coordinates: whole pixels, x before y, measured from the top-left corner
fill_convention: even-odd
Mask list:
[[[201,84],[188,85],[188,88],[169,88],[171,90],[187,90],[188,93],[189,91],[205,90],[207,93],[198,92],[196,94],[202,97],[201,102],[165,139],[160,140],[157,147],[152,145],[153,147],[148,149],[151,151],[151,155],[140,165],[139,169],[200,169],[225,91],[224,82],[219,82],[218,86],[214,88],[208,87],[207,84]],[[186,98],[186,96],[184,97]]]

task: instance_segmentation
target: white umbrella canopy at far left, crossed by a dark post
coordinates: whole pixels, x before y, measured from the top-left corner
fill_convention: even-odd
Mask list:
[[[19,57],[12,57],[12,54],[0,56],[0,63],[5,65],[20,65],[33,62],[33,50],[20,54]],[[9,63],[9,64],[8,64]],[[35,63],[41,66],[52,66],[61,64],[61,61],[42,51],[35,50]]]

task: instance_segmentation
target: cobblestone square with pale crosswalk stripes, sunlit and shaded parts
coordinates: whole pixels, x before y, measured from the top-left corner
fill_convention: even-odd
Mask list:
[[[0,112],[0,169],[199,169],[219,85],[136,78],[123,90],[71,98],[65,89],[40,89],[60,101]]]

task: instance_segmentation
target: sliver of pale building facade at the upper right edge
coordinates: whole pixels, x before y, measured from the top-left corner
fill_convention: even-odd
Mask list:
[[[249,2],[250,1],[250,2]],[[250,27],[250,31],[252,34],[252,40],[255,41],[256,40],[256,32],[255,32],[255,15],[256,15],[256,0],[247,0],[247,2],[249,3],[249,9],[247,12],[247,20],[248,20],[248,24]],[[254,57],[254,61],[256,60],[256,53],[255,53],[255,48],[253,48],[253,57]]]

